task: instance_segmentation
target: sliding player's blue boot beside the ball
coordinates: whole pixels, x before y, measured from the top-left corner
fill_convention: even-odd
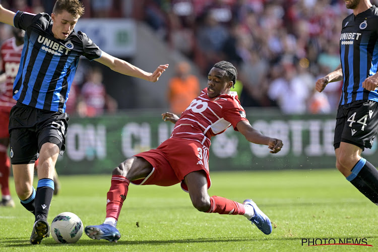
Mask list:
[[[96,240],[105,239],[108,241],[117,242],[117,240],[121,237],[118,229],[108,224],[86,226],[85,233],[89,238]]]

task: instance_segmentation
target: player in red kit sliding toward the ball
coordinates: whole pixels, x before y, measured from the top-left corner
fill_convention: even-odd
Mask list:
[[[281,140],[264,136],[249,124],[236,92],[230,92],[236,79],[235,67],[230,62],[220,61],[208,74],[208,87],[182,112],[180,118],[173,113],[162,114],[164,120],[175,123],[171,137],[157,149],[139,153],[114,168],[107,193],[105,221],[101,225],[85,227],[90,238],[109,241],[120,238],[116,224],[130,182],[161,186],[181,183],[197,210],[243,215],[263,233],[272,232],[270,219],[252,200],[247,199],[241,204],[208,194],[212,136],[223,133],[232,125],[247,141],[267,145],[271,153],[279,152],[283,146]]]

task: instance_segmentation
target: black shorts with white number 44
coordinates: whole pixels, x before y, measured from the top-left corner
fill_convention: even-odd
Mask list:
[[[370,149],[378,132],[378,103],[370,100],[340,105],[337,110],[335,149],[340,142]]]

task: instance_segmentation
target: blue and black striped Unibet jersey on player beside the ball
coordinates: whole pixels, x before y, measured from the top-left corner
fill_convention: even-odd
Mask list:
[[[14,25],[25,30],[25,38],[13,98],[39,109],[65,112],[79,57],[99,58],[100,48],[80,31],[73,31],[66,40],[54,38],[52,19],[46,13],[17,12]]]

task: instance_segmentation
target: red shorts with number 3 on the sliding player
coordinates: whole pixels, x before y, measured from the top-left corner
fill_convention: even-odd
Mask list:
[[[187,192],[184,177],[193,171],[204,170],[208,188],[211,186],[209,149],[201,143],[183,139],[168,139],[157,149],[135,156],[146,159],[153,166],[153,170],[146,178],[132,181],[134,184],[169,186],[181,182],[182,190]]]

